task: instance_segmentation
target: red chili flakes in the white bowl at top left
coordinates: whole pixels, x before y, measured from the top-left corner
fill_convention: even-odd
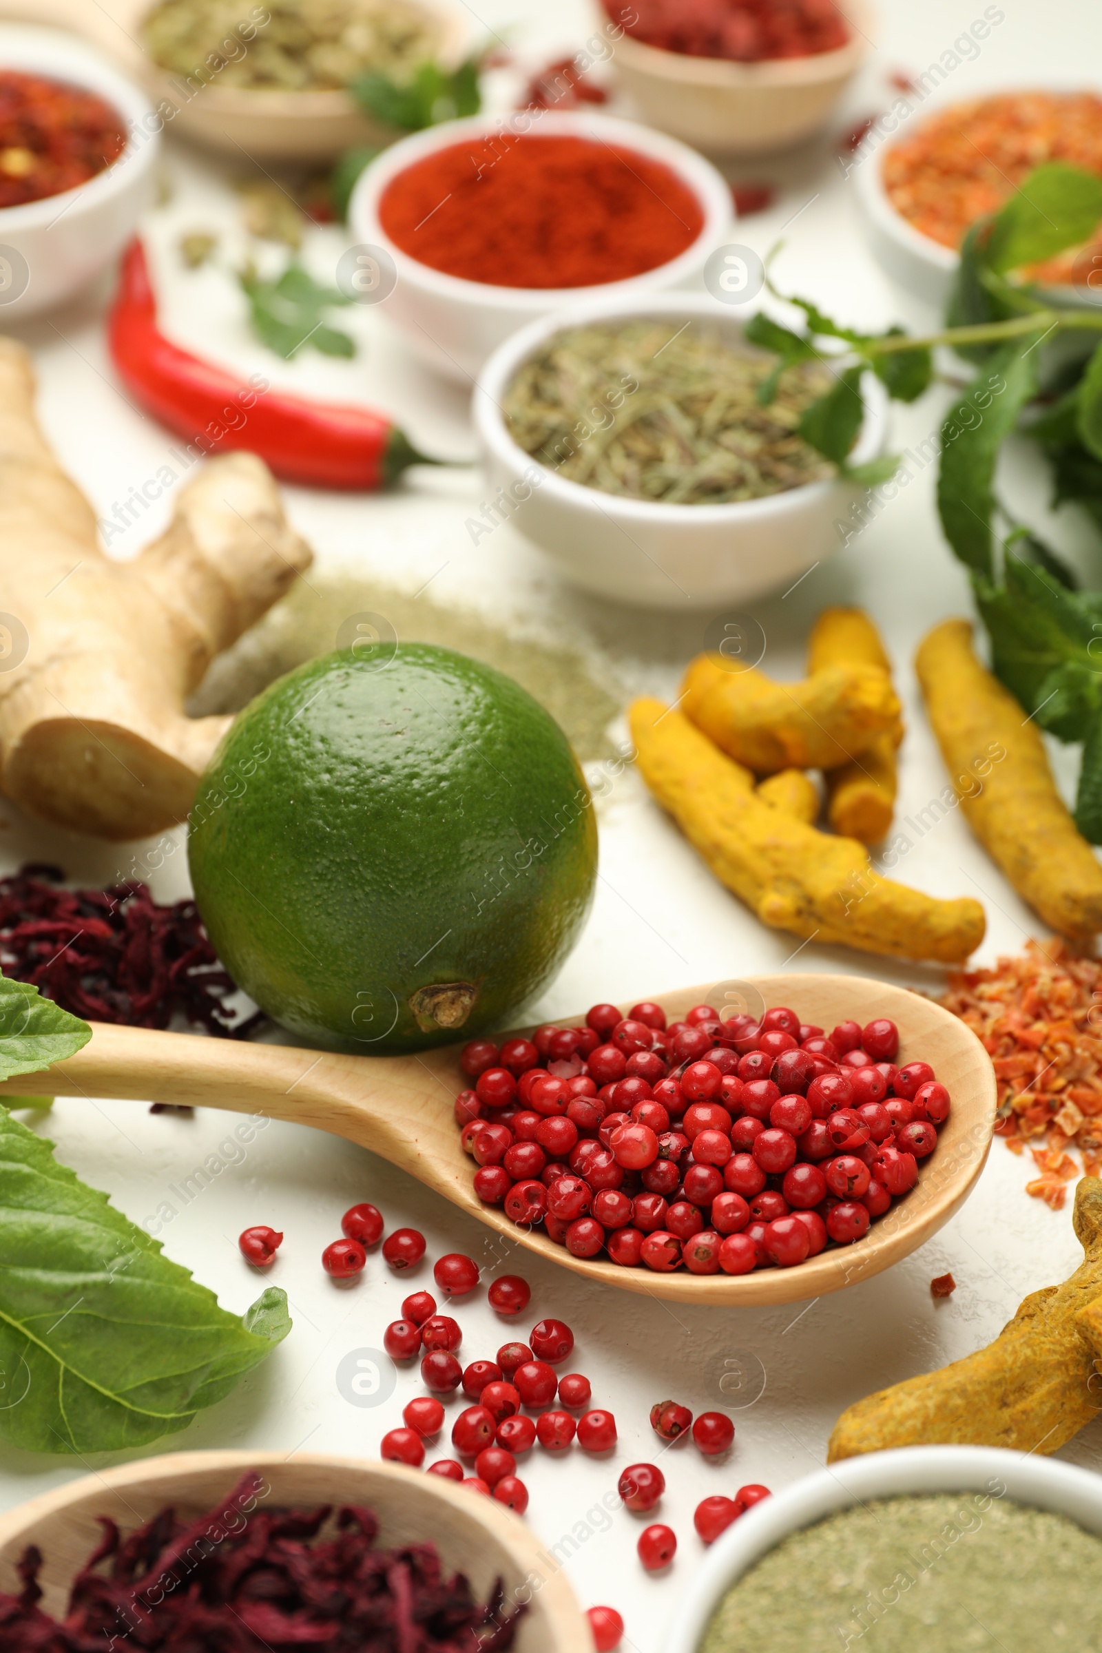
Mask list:
[[[117,109],[41,74],[0,71],[0,207],[76,188],[126,149]]]

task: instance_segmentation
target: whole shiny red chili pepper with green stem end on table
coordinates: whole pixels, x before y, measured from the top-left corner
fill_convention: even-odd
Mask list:
[[[107,324],[111,357],[127,390],[178,436],[207,453],[248,448],[273,473],[306,488],[385,488],[408,464],[436,464],[383,413],[306,402],[261,380],[203,362],[157,327],[145,250],[131,241]]]

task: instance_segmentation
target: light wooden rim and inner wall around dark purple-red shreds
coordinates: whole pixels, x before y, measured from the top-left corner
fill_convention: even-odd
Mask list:
[[[101,1537],[96,1516],[111,1516],[124,1534],[165,1504],[180,1516],[200,1516],[256,1470],[268,1491],[261,1506],[367,1504],[378,1516],[378,1544],[436,1544],[444,1569],[464,1572],[481,1600],[502,1579],[506,1600],[530,1600],[515,1653],[583,1653],[591,1646],[588,1622],[562,1567],[529,1527],[502,1504],[438,1474],[393,1463],[251,1451],[178,1451],[117,1470],[81,1476],[31,1498],[0,1516],[0,1590],[18,1593],[15,1564],[28,1544],[43,1554],[41,1607],[61,1617],[74,1572]],[[525,1587],[527,1580],[527,1587]],[[539,1582],[537,1582],[539,1580]],[[126,1648],[122,1640],[119,1646]]]

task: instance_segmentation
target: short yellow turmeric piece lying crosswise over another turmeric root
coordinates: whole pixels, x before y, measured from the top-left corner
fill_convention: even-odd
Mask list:
[[[758,775],[780,769],[838,769],[866,752],[899,719],[892,679],[879,666],[829,666],[803,683],[762,671],[729,671],[697,655],[679,706],[720,750]]]

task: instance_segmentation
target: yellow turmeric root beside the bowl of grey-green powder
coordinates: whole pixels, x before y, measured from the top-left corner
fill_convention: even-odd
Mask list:
[[[993,1344],[843,1412],[826,1461],[889,1446],[957,1443],[1052,1453],[1102,1407],[1102,1182],[1076,1189],[1085,1260],[1031,1293]]]

